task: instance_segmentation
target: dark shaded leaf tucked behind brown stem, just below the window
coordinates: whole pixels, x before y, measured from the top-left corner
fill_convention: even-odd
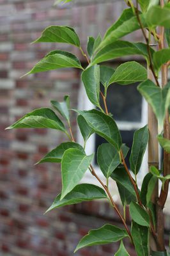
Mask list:
[[[128,189],[126,189],[124,186],[122,186],[118,182],[116,182],[116,185],[118,187],[118,191],[119,191],[123,206],[129,205],[132,201],[136,200],[134,193],[132,193],[134,191],[129,192]]]

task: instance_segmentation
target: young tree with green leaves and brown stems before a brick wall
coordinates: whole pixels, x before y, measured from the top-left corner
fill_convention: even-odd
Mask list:
[[[70,1],[72,0],[65,2]],[[47,212],[64,205],[104,198],[109,200],[113,211],[116,211],[123,223],[124,228],[106,224],[97,230],[91,230],[82,237],[75,252],[84,246],[120,241],[120,248],[115,255],[129,255],[123,244],[123,239],[128,237],[137,255],[163,256],[168,255],[164,243],[163,209],[170,179],[170,83],[167,83],[167,68],[170,61],[170,3],[164,0],[160,0],[160,3],[153,0],[125,0],[125,2],[127,9],[123,10],[120,18],[107,29],[104,38],[100,36],[88,38],[88,54],[82,50],[75,30],[68,26],[50,26],[35,41],[35,43],[59,42],[75,45],[88,61],[88,67],[83,68],[72,53],[51,51],[26,74],[70,67],[82,70],[82,82],[89,100],[95,106],[95,109],[89,111],[74,109],[78,115],[77,123],[84,138],[84,147],[73,138],[68,96],[65,96],[63,102],[51,101],[54,111],[65,118],[68,131],[65,124],[50,108],[35,109],[7,129],[49,128],[64,132],[68,137],[68,142],[61,143],[39,161],[39,163],[61,163],[63,188]],[[120,40],[137,29],[141,29],[145,43]],[[154,45],[158,45],[157,51],[153,49]],[[116,70],[100,65],[104,61],[136,54],[146,60],[148,77],[146,68],[136,61],[125,62]],[[158,79],[160,72],[161,83]],[[107,109],[107,90],[112,83],[128,86],[136,82],[141,82],[137,90],[149,104],[148,126],[134,132],[129,158],[130,170],[128,170],[125,158],[129,148],[123,144],[118,126]],[[104,88],[104,93],[101,86]],[[104,109],[101,101],[104,102]],[[105,181],[100,179],[91,164],[93,154],[86,155],[86,141],[94,132],[107,141],[98,147],[97,152],[98,165]],[[162,167],[158,162],[158,143],[164,150]],[[148,173],[139,189],[137,173],[141,168],[147,144]],[[98,180],[100,187],[93,184],[79,184],[85,172],[91,172],[91,176]],[[126,223],[125,212],[124,215],[121,214],[112,198],[109,180],[116,181],[125,212],[129,205],[131,228]],[[158,180],[162,182],[160,193],[158,193]]]

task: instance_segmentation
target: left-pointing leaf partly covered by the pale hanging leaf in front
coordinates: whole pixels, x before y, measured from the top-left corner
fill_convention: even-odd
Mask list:
[[[83,154],[85,154],[84,149],[75,142],[65,142],[61,143],[58,147],[51,150],[48,154],[46,154],[37,164],[40,163],[61,163],[61,159],[63,157],[63,154],[68,148],[77,148],[79,149]]]

